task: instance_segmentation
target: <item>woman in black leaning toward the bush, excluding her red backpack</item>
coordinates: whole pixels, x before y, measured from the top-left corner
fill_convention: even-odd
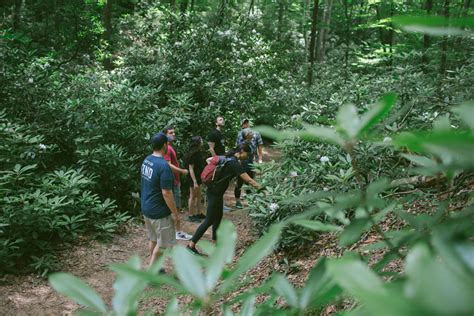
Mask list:
[[[196,244],[210,226],[212,226],[212,240],[215,241],[217,239],[217,229],[219,228],[224,213],[224,193],[229,187],[229,182],[232,178],[240,177],[245,183],[257,189],[262,188],[260,184],[250,178],[240,165],[240,161],[247,159],[251,152],[250,146],[244,143],[225,155],[226,160],[221,166],[219,174],[207,188],[206,195],[208,204],[206,218],[197,228],[188,244],[188,249],[193,253],[201,254],[196,249]]]

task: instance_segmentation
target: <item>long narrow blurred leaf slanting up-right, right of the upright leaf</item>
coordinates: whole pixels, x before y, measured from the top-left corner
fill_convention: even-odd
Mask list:
[[[225,292],[233,285],[235,280],[242,274],[250,270],[253,266],[265,258],[272,250],[280,238],[284,223],[274,224],[268,232],[255,242],[237,262],[235,268],[224,280],[220,292]]]

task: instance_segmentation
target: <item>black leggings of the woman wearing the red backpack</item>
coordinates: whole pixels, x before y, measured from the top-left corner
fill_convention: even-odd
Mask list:
[[[212,194],[207,190],[207,212],[206,219],[199,225],[198,229],[191,238],[191,241],[197,243],[209,226],[212,225],[212,240],[217,239],[217,229],[224,214],[224,194]]]

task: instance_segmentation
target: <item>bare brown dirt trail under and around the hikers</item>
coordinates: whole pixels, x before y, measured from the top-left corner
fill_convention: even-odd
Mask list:
[[[278,159],[278,156],[277,151],[265,148],[266,161]],[[233,187],[226,192],[225,201],[226,205],[234,205]],[[225,213],[224,218],[231,220],[237,228],[239,237],[236,254],[239,256],[255,241],[256,234],[252,231],[252,224],[245,209]],[[189,234],[199,225],[186,221],[183,223],[183,230]],[[209,229],[204,238],[210,237]],[[110,305],[115,275],[108,268],[109,264],[126,262],[134,254],[138,255],[142,262],[147,261],[146,230],[141,224],[127,225],[123,233],[110,242],[90,240],[70,248],[69,251],[63,251],[59,254],[59,262],[62,271],[80,277]],[[266,259],[252,271],[255,283],[263,280],[269,271],[273,271],[278,265],[272,262],[272,259]],[[163,298],[148,298],[142,302],[140,310],[160,314],[165,310],[166,304]],[[78,308],[79,305],[56,293],[45,278],[36,275],[7,275],[0,279],[0,315],[68,315]]]

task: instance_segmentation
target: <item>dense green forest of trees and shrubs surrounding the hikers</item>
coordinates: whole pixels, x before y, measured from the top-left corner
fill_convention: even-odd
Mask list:
[[[9,305],[32,276],[87,315],[474,313],[470,0],[0,0],[0,13],[1,314],[32,312]],[[210,156],[218,116],[228,149],[244,119],[263,136],[264,190],[244,187],[217,242],[198,243],[206,257],[178,243],[144,268],[149,140],[173,126],[181,164],[193,136]],[[104,255],[107,295],[64,261],[130,232],[143,250]]]

